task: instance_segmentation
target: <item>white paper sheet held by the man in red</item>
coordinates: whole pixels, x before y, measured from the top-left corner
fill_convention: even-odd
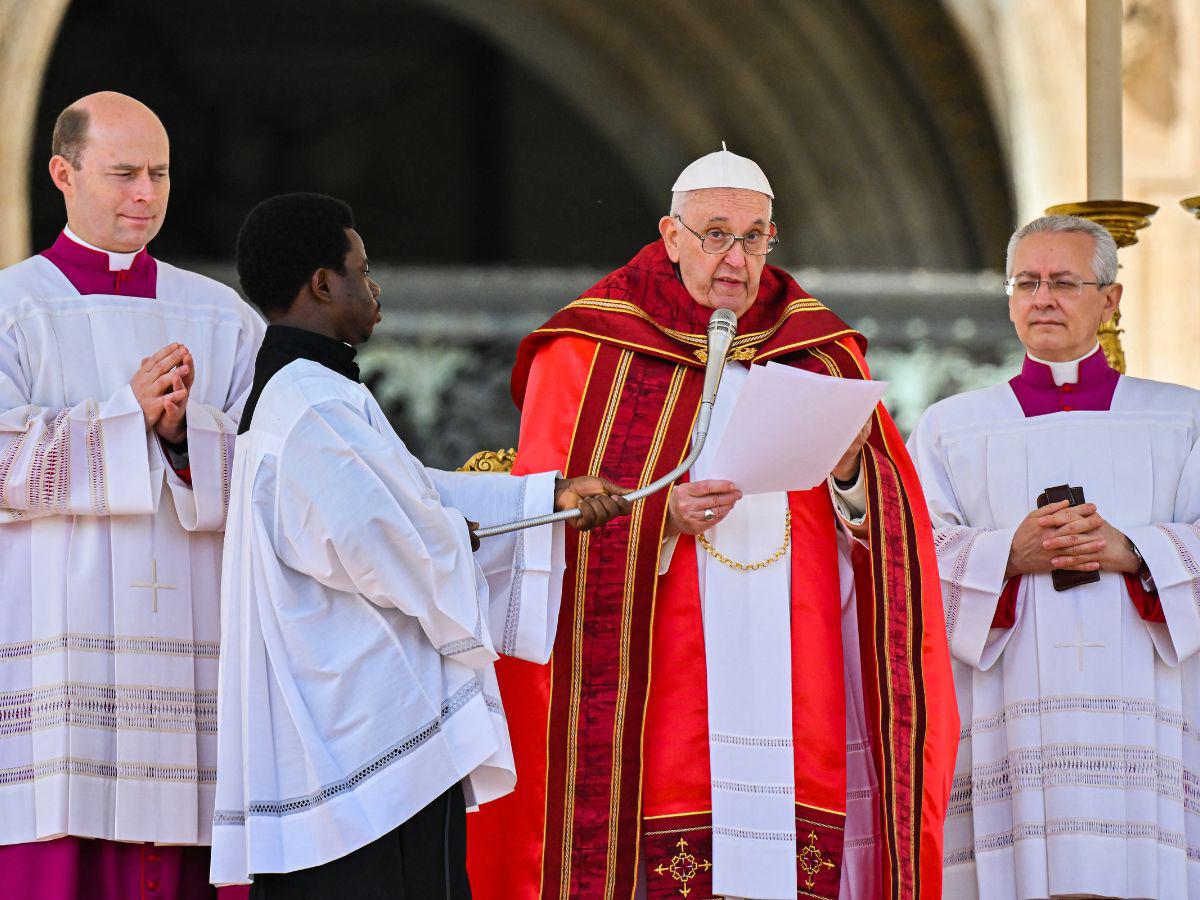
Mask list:
[[[706,478],[743,493],[824,481],[883,397],[887,382],[832,378],[778,362],[750,366]]]

